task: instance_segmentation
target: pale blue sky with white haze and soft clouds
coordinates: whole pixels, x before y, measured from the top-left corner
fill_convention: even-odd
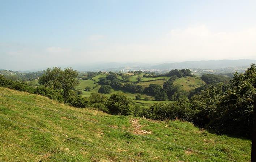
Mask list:
[[[0,4],[0,69],[256,59],[255,0]]]

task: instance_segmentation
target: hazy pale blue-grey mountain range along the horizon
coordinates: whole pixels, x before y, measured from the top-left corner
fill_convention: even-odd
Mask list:
[[[184,61],[174,63],[146,64],[140,62],[98,62],[89,64],[56,65],[61,68],[72,67],[78,71],[120,71],[120,70],[171,70],[171,69],[223,69],[227,67],[249,67],[256,60],[209,60],[209,61]],[[22,72],[34,72],[46,69],[33,69]],[[0,69],[3,70],[3,69]]]

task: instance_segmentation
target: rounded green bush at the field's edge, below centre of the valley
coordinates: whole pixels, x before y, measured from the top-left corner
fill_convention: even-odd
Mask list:
[[[112,94],[106,106],[113,115],[131,115],[134,111],[134,102],[124,93]]]

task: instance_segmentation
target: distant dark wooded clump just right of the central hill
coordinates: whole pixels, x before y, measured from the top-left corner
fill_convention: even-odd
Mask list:
[[[222,75],[204,74],[201,76],[201,79],[207,84],[214,84],[219,82],[229,82],[231,78]]]

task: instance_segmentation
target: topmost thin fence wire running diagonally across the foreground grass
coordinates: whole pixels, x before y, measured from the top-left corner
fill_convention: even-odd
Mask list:
[[[215,155],[215,154],[202,152],[202,151],[195,150],[195,149],[191,149],[191,148],[188,148],[188,147],[185,147],[185,146],[181,146],[181,145],[177,145],[177,144],[174,144],[174,143],[170,143],[170,142],[158,140],[158,139],[155,139],[155,138],[151,138],[151,137],[148,137],[148,136],[144,136],[144,135],[136,134],[136,133],[133,133],[133,132],[129,132],[129,131],[126,131],[126,130],[123,130],[123,129],[120,129],[120,128],[108,126],[108,125],[105,125],[105,124],[102,124],[102,123],[99,123],[99,122],[95,122],[95,121],[91,121],[91,120],[88,120],[88,119],[85,119],[85,118],[82,118],[82,117],[78,117],[78,116],[75,116],[75,115],[72,115],[72,114],[64,113],[64,112],[59,111],[59,110],[46,108],[46,107],[44,107],[44,106],[39,106],[39,105],[30,103],[30,102],[26,102],[26,101],[20,100],[20,99],[18,99],[18,98],[9,97],[9,96],[3,95],[3,94],[0,94],[0,96],[6,97],[6,98],[10,98],[10,99],[13,99],[13,100],[17,100],[17,101],[20,101],[20,102],[24,102],[24,103],[26,103],[26,104],[30,104],[30,105],[33,105],[33,106],[37,106],[37,107],[42,108],[42,109],[45,109],[45,110],[55,111],[55,112],[57,112],[57,113],[61,113],[61,114],[64,114],[64,115],[68,115],[69,117],[74,117],[74,118],[77,118],[77,119],[81,119],[81,120],[83,120],[83,121],[91,122],[91,123],[94,123],[94,124],[98,124],[98,125],[100,125],[100,126],[109,127],[109,128],[112,128],[112,129],[115,129],[115,130],[118,130],[118,131],[130,133],[130,134],[135,135],[135,136],[140,136],[140,137],[143,137],[143,138],[146,138],[146,139],[150,139],[150,140],[153,140],[153,141],[158,141],[158,142],[161,142],[161,143],[164,143],[164,144],[173,145],[173,146],[176,146],[176,147],[178,147],[178,148],[190,150],[190,151],[197,152],[197,153],[202,153],[202,154],[205,154],[205,155],[208,155],[208,156],[213,156],[213,157],[225,159],[225,160],[227,160],[227,161],[237,162],[237,161],[235,161],[235,160],[232,160],[232,159],[229,159],[229,158],[225,158],[225,157],[221,157],[221,156],[217,156],[217,155]]]

